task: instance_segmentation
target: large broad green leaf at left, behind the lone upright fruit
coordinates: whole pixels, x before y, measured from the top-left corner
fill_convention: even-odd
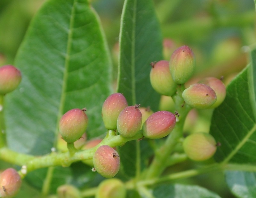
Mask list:
[[[71,108],[87,108],[88,139],[105,133],[101,107],[111,92],[106,46],[98,16],[87,0],[45,2],[15,59],[22,73],[20,87],[6,96],[6,133],[12,150],[50,153],[56,146],[58,120]],[[39,172],[31,172],[32,183]],[[73,174],[62,173],[60,180]]]

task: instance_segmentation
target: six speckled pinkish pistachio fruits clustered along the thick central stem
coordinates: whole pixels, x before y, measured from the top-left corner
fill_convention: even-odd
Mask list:
[[[84,109],[71,109],[59,122],[62,139],[67,143],[78,140],[86,131],[88,117]],[[103,123],[108,130],[116,131],[124,138],[135,136],[140,130],[145,138],[159,139],[167,136],[176,124],[176,117],[169,111],[157,111],[140,105],[128,106],[121,93],[113,93],[102,106]],[[99,142],[98,142],[99,143]],[[92,157],[93,170],[105,178],[114,177],[120,168],[120,157],[117,151],[108,145],[97,148]]]

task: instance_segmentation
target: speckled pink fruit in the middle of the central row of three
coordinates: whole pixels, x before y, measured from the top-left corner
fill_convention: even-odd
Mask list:
[[[140,105],[126,107],[117,118],[117,130],[125,138],[135,136],[140,131],[142,114],[138,107]]]

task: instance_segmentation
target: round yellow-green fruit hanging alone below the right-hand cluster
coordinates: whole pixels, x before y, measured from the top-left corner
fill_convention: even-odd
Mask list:
[[[211,158],[216,152],[216,141],[209,133],[193,133],[183,142],[185,153],[191,160],[204,161]]]

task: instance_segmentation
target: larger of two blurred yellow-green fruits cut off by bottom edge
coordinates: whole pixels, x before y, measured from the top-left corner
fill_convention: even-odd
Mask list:
[[[95,198],[125,198],[124,183],[117,178],[105,179],[98,186]]]

